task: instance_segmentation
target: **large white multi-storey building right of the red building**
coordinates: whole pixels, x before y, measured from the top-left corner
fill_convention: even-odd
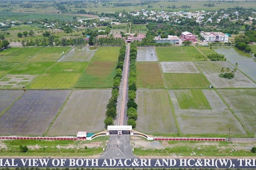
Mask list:
[[[214,43],[214,42],[221,42],[227,43],[228,42],[228,35],[222,32],[204,32],[201,31],[200,35],[203,37],[203,42],[205,43]]]

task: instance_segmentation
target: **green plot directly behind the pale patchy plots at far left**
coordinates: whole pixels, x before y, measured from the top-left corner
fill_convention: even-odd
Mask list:
[[[23,63],[11,70],[9,74],[42,74],[52,65],[53,62]]]

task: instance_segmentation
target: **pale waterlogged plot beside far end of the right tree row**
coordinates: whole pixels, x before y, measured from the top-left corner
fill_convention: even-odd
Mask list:
[[[156,62],[157,56],[154,47],[138,47],[137,62]]]

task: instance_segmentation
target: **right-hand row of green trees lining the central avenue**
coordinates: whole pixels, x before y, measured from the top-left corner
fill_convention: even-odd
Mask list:
[[[138,117],[137,108],[138,105],[134,101],[136,98],[136,81],[137,81],[137,73],[136,73],[136,58],[137,58],[137,43],[133,42],[130,45],[130,72],[128,79],[128,102],[127,102],[127,115],[128,121],[127,124],[131,125],[132,128],[136,127],[136,119]]]

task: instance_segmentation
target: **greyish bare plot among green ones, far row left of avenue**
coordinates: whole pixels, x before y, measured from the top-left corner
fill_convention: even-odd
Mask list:
[[[75,47],[67,54],[65,53],[58,62],[83,62],[89,61],[93,57],[96,49],[89,49],[87,47]]]

